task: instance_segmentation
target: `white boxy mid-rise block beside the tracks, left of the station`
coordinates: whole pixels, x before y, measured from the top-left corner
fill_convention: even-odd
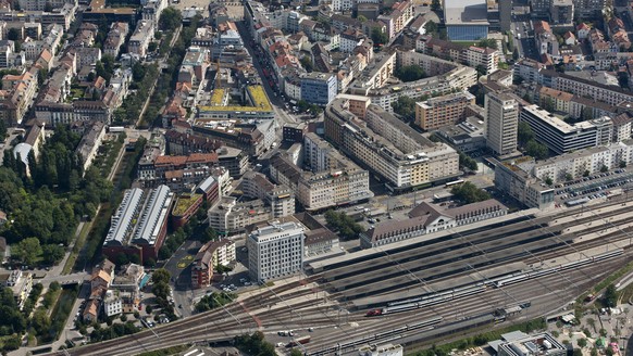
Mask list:
[[[263,282],[289,276],[303,267],[305,227],[298,223],[259,225],[247,240],[248,270],[252,280]]]

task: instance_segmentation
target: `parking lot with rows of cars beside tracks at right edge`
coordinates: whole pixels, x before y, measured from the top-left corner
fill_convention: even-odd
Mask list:
[[[633,173],[625,168],[583,177],[556,186],[556,204],[578,205],[594,199],[607,199],[619,192],[626,192],[633,183]]]

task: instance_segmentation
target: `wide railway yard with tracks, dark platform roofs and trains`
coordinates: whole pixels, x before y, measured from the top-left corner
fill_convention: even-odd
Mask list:
[[[631,204],[622,198],[528,211],[313,263],[307,276],[262,285],[223,308],[69,353],[128,355],[260,330],[280,349],[303,338],[309,342],[295,345],[308,355],[345,355],[528,320],[564,307],[630,260]],[[280,335],[288,330],[293,336]]]

